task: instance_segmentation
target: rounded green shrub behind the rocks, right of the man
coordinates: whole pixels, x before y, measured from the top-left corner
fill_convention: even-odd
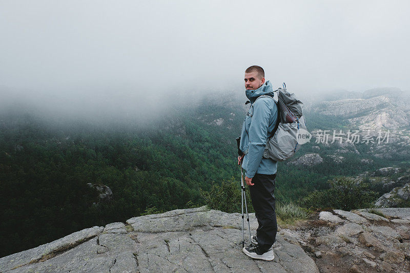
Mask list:
[[[377,194],[368,190],[367,183],[358,183],[347,177],[327,181],[329,190],[315,191],[302,199],[302,205],[313,208],[338,208],[351,211],[356,208],[372,207]]]

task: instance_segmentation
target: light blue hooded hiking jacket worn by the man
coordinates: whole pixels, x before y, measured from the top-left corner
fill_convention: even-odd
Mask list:
[[[256,90],[247,90],[246,95],[251,101],[251,107],[242,124],[239,149],[245,153],[242,168],[249,178],[258,174],[275,174],[278,162],[269,158],[262,158],[263,150],[270,134],[276,125],[278,107],[272,98],[264,97],[255,100],[262,95],[273,96],[272,83],[268,80]]]

